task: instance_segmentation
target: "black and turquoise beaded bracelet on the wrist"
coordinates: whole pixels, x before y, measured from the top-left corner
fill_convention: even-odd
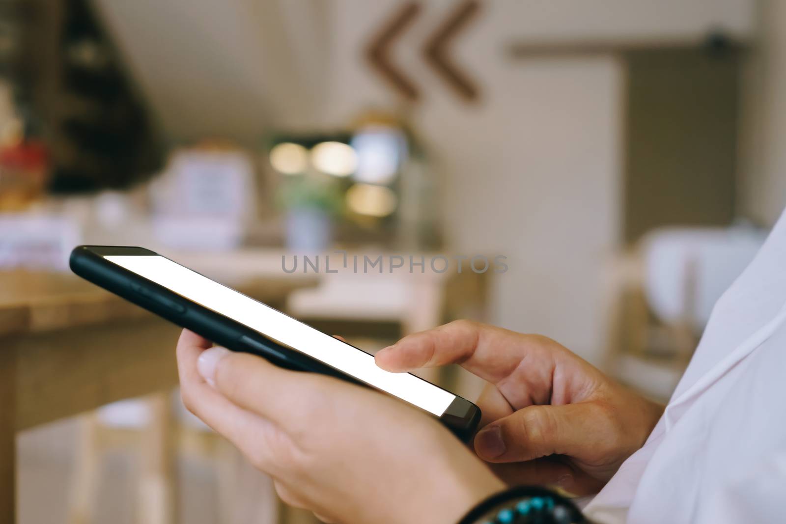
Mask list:
[[[570,500],[549,489],[519,486],[472,508],[458,524],[586,524]]]

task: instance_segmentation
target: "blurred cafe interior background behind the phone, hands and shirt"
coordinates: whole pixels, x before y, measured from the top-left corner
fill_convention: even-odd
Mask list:
[[[541,333],[666,400],[786,205],[784,29],[780,0],[3,0],[0,521],[315,522],[79,244],[370,352]]]

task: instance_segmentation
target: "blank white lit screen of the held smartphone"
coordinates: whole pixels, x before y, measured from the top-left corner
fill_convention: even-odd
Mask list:
[[[436,416],[441,416],[455,398],[454,394],[410,373],[384,371],[376,366],[374,357],[364,351],[203,277],[169,258],[158,255],[105,255],[104,258]]]

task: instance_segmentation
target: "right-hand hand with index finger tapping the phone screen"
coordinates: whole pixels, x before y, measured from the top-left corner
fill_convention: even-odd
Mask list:
[[[510,484],[597,493],[663,412],[541,335],[455,321],[376,354],[392,372],[454,363],[489,383],[474,446]]]

